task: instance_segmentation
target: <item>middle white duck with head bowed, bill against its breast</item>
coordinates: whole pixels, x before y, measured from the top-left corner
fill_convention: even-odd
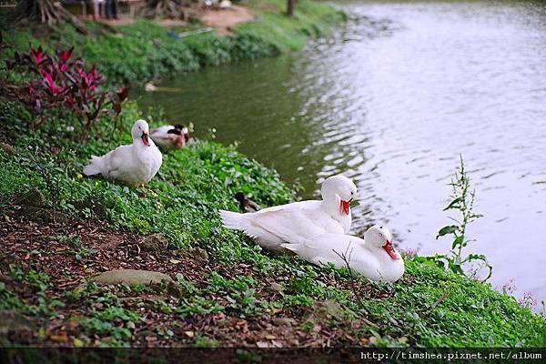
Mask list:
[[[350,203],[357,187],[343,176],[327,178],[321,201],[300,201],[268,207],[252,214],[220,210],[227,228],[243,231],[264,248],[282,249],[286,237],[312,238],[325,233],[344,234],[350,228]]]

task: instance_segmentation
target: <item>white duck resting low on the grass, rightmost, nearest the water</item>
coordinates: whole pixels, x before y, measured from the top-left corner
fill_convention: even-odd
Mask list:
[[[290,238],[282,244],[298,256],[316,265],[333,263],[336,268],[347,264],[371,280],[394,282],[404,274],[404,260],[392,246],[392,235],[387,227],[373,226],[366,230],[364,239],[343,234],[323,234],[315,238]]]

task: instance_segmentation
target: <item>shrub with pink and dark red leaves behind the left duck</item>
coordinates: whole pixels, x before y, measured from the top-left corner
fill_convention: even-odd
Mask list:
[[[28,53],[15,52],[13,59],[6,60],[6,66],[29,80],[17,86],[16,97],[38,116],[34,126],[51,117],[49,110],[67,109],[82,121],[86,135],[101,115],[112,115],[116,121],[128,89],[103,90],[105,79],[96,66],[86,69],[83,58],[73,54],[74,47],[57,49],[55,56],[49,56],[41,45],[37,49],[31,45]]]

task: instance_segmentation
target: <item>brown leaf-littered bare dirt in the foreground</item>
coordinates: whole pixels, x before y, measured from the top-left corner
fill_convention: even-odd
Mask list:
[[[78,237],[81,240],[80,248],[94,253],[84,259],[77,258],[75,248],[59,241],[58,237]],[[225,267],[206,254],[205,258],[197,254],[196,258],[176,250],[146,251],[142,247],[142,239],[137,234],[112,231],[100,221],[32,221],[21,216],[16,209],[4,216],[0,214],[0,282],[14,292],[25,306],[38,306],[40,295],[35,288],[17,281],[9,272],[14,267],[25,274],[30,270],[43,272],[51,283],[45,296],[64,302],[64,306],[55,308],[54,316],[47,318],[36,318],[25,311],[21,311],[23,314],[15,312],[17,317],[28,319],[30,324],[24,324],[23,329],[6,329],[0,323],[0,331],[5,333],[4,340],[14,345],[40,347],[73,347],[81,339],[86,345],[103,345],[108,338],[85,332],[77,321],[71,319],[93,317],[93,312],[102,308],[100,299],[92,304],[89,301],[74,302],[66,299],[66,292],[81,287],[86,278],[117,268],[163,272],[171,278],[179,273],[197,288],[207,287],[211,272],[226,278],[252,275],[260,282],[259,298],[273,301],[282,297],[282,292],[275,287],[277,282],[288,277],[264,278],[251,266],[239,264]],[[153,294],[123,291],[116,294],[123,308],[143,318],[136,322],[129,339],[133,347],[192,347],[199,336],[217,340],[220,347],[231,348],[350,347],[368,342],[368,339],[349,335],[349,328],[341,323],[342,320],[335,318],[336,308],[333,313],[330,312],[328,303],[320,303],[313,308],[284,308],[253,317],[240,317],[228,309],[220,313],[183,316],[161,309],[166,305],[177,307],[181,297],[176,289],[163,289]],[[223,307],[230,304],[229,298],[222,295],[207,293],[206,298],[217,301]],[[303,329],[308,321],[312,322],[311,326]],[[123,326],[123,322],[119,324]],[[361,325],[363,323],[359,320],[350,324],[351,329],[359,329]],[[172,336],[157,335],[162,328],[172,331]],[[0,339],[3,339],[2,336],[0,332]]]

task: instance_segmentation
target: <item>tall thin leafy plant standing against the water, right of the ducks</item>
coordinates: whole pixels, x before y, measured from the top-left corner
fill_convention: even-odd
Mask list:
[[[432,260],[440,267],[444,268],[446,265],[450,270],[458,274],[465,274],[463,266],[473,261],[480,261],[481,267],[488,269],[487,276],[483,278],[483,281],[488,280],[491,277],[492,267],[487,261],[487,258],[482,254],[469,254],[466,257],[463,256],[463,248],[467,247],[470,242],[476,241],[475,239],[468,239],[466,232],[470,223],[476,219],[482,217],[482,215],[474,211],[474,198],[476,191],[470,186],[470,177],[464,166],[464,161],[460,157],[460,166],[455,172],[455,176],[451,178],[450,186],[452,187],[452,195],[450,204],[445,207],[444,211],[457,211],[459,217],[450,217],[455,224],[441,227],[436,239],[441,237],[451,237],[450,254],[437,254]],[[478,272],[474,272],[477,275]]]

